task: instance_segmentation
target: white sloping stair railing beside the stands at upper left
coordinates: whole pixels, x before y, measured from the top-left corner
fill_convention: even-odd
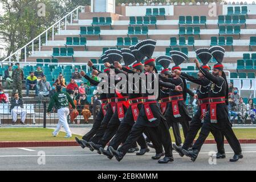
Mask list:
[[[63,27],[64,30],[67,30],[67,24],[73,23],[73,20],[78,20],[78,15],[79,15],[79,10],[80,12],[84,13],[84,6],[78,6],[76,9],[72,10],[70,13],[68,13],[66,16],[64,16],[62,19],[59,19],[56,23],[54,23],[51,27],[47,28],[44,32],[42,32],[40,35],[38,35],[35,39],[31,40],[29,43],[27,43],[25,46],[22,48],[18,49],[14,53],[11,53],[10,56],[6,57],[2,62],[5,62],[9,60],[11,62],[11,57],[16,56],[16,60],[19,60],[19,55],[21,55],[21,51],[24,49],[24,57],[25,57],[25,62],[27,61],[27,47],[32,46],[32,51],[31,55],[34,55],[34,42],[35,40],[38,40],[38,51],[41,51],[41,36],[45,35],[45,45],[47,46],[48,42],[48,31],[52,31],[52,40],[54,40],[54,35],[55,35],[55,28],[58,28],[58,35],[60,35],[60,30],[62,28],[61,24],[64,22]],[[75,19],[74,19],[75,17]],[[68,21],[68,18],[70,18],[70,22]]]

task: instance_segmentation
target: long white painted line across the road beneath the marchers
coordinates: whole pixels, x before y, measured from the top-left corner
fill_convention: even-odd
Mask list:
[[[226,154],[234,152],[225,152]],[[256,153],[256,151],[243,151],[242,153]],[[178,154],[178,153],[173,153]],[[200,152],[199,154],[209,154],[209,152]],[[127,154],[127,155],[136,155],[136,154]],[[155,153],[147,153],[144,155],[155,155]],[[10,157],[38,157],[40,155],[0,155],[0,158],[10,158]],[[67,155],[45,155],[48,157],[72,157],[72,156],[103,156],[99,154],[67,154]]]

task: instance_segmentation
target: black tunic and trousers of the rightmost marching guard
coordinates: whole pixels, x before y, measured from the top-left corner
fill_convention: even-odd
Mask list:
[[[206,78],[208,78],[208,80],[212,82],[212,85],[210,86],[210,98],[220,98],[227,96],[228,93],[226,92],[226,81],[223,77],[213,76],[204,68],[200,68],[199,70],[204,74]],[[205,114],[200,135],[194,143],[193,149],[200,151],[202,144],[204,144],[204,141],[208,137],[210,131],[217,130],[224,134],[234,153],[237,155],[241,154],[242,149],[237,137],[235,137],[234,131],[231,128],[226,103],[217,104],[216,106],[217,123],[211,122],[209,109],[210,106],[208,106],[208,112]]]

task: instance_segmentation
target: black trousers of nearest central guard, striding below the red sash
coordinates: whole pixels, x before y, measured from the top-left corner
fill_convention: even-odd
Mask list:
[[[140,117],[138,119],[144,119],[143,117]],[[170,140],[170,133],[168,130],[168,126],[165,121],[160,121],[160,124],[156,127],[148,127],[144,125],[139,125],[137,122],[135,125],[132,126],[131,133],[129,133],[129,136],[123,146],[119,148],[119,151],[123,152],[123,154],[126,154],[129,148],[131,148],[132,144],[141,136],[141,134],[146,131],[150,134],[157,134],[157,138],[160,138],[160,142],[164,146],[165,150],[165,156],[172,156],[172,144]]]

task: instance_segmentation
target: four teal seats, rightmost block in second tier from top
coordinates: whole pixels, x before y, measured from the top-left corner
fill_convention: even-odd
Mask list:
[[[245,24],[246,28],[246,18],[245,15],[219,15],[218,16],[218,26],[219,24]]]

